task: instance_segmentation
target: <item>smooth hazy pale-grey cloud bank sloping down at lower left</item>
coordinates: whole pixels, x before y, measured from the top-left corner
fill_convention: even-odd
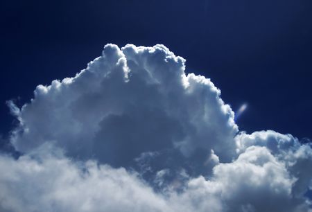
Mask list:
[[[171,211],[124,168],[41,154],[1,156],[0,168],[1,211]]]

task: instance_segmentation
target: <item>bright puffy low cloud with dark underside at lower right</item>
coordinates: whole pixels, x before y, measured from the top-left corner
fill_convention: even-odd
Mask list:
[[[210,180],[198,177],[189,185],[194,195],[214,195],[223,211],[295,211],[294,182],[284,164],[266,148],[250,147],[236,161],[215,166]]]

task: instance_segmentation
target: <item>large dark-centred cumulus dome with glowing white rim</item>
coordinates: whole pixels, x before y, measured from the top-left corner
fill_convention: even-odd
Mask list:
[[[21,121],[12,143],[21,152],[54,143],[116,167],[143,152],[200,152],[203,164],[214,150],[230,161],[234,113],[209,79],[184,73],[184,62],[162,45],[107,44],[76,77],[39,85],[20,111],[11,105]]]

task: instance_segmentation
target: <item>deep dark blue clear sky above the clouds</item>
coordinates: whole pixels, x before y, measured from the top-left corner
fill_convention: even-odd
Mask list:
[[[73,76],[107,43],[164,44],[205,75],[239,127],[312,138],[311,0],[1,1],[0,133],[36,85]]]

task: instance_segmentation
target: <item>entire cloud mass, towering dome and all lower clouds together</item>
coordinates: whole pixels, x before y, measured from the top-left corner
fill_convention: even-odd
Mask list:
[[[107,44],[74,78],[9,104],[1,211],[312,211],[311,145],[239,132],[204,76],[165,46]]]

